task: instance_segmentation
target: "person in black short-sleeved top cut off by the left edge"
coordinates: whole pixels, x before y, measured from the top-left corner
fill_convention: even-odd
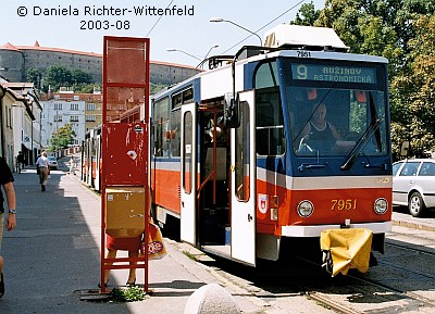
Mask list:
[[[14,178],[12,172],[7,164],[5,160],[0,158],[0,184],[5,192],[8,202],[8,219],[7,230],[13,230],[16,227],[15,217],[15,189],[13,186]],[[4,294],[4,278],[3,278],[3,258],[1,255],[1,242],[3,239],[3,225],[4,225],[4,208],[3,208],[3,191],[0,189],[0,298]]]

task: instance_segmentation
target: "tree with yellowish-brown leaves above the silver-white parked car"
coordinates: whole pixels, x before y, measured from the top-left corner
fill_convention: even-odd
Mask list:
[[[435,16],[420,15],[413,26],[409,66],[391,83],[393,149],[410,140],[411,155],[424,156],[435,146]]]

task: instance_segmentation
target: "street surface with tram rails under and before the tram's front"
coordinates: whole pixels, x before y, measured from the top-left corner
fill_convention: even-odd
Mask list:
[[[214,266],[239,291],[257,299],[264,309],[286,309],[285,301],[301,296],[328,311],[344,314],[435,313],[435,263],[431,248],[387,240],[385,255],[376,253],[378,266],[361,274],[325,276],[312,258],[289,258],[283,263],[265,263],[257,271],[235,267],[232,263]],[[425,266],[424,266],[425,265]],[[428,272],[425,272],[427,267]],[[222,269],[220,269],[222,268]],[[261,303],[263,302],[263,303]],[[264,305],[269,304],[269,305]],[[271,306],[271,307],[268,307]],[[289,307],[288,307],[289,309]],[[268,312],[265,312],[268,313]]]

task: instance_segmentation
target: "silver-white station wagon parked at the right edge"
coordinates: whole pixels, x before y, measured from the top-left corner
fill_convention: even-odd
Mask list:
[[[435,208],[435,160],[403,160],[393,164],[393,204],[408,206],[419,217]]]

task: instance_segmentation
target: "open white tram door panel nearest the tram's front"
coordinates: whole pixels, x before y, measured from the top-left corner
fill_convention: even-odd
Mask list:
[[[256,115],[254,92],[239,93],[240,126],[232,129],[232,258],[256,265]]]

